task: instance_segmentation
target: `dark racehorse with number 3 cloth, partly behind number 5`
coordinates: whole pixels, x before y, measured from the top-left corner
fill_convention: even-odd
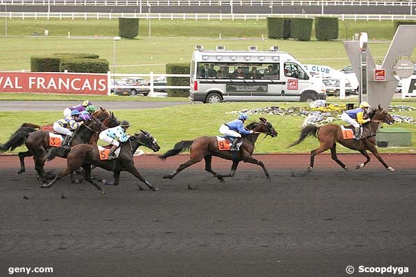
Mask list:
[[[74,131],[76,134],[73,135],[71,146],[78,145],[80,143],[87,143],[92,134],[101,132],[103,129],[106,129],[105,125],[93,117],[92,120],[80,125],[80,127]],[[50,177],[44,172],[44,156],[47,150],[51,148],[49,145],[49,132],[37,131],[33,127],[19,127],[15,134],[12,134],[6,143],[0,144],[0,153],[8,150],[14,150],[23,144],[26,145],[28,151],[19,152],[21,168],[18,173],[20,174],[25,171],[24,157],[33,156],[33,160],[35,161],[35,170],[37,171],[39,178],[44,181],[46,177]]]

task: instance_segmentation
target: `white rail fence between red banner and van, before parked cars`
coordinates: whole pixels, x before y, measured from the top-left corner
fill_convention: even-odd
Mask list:
[[[150,72],[148,74],[128,74],[128,73],[110,73],[110,72],[108,72],[107,73],[107,80],[108,80],[108,84],[109,84],[108,85],[108,95],[110,96],[112,91],[113,90],[116,91],[116,89],[135,89],[137,91],[139,91],[140,89],[149,89],[150,91],[149,91],[148,96],[150,96],[150,97],[166,96],[165,93],[158,93],[158,92],[155,91],[154,80],[155,80],[155,78],[162,77],[162,76],[174,77],[174,78],[189,78],[190,77],[189,74],[155,74],[153,72]],[[125,85],[122,85],[122,86],[117,86],[117,85],[114,86],[114,84],[111,85],[112,82],[114,83],[114,80],[119,81],[123,78],[132,78],[132,77],[133,78],[134,77],[146,78],[146,79],[148,79],[148,84],[144,85],[144,86],[142,86],[142,85],[139,85],[139,86],[136,85],[135,86],[135,85],[130,85],[130,84],[125,84]],[[158,90],[161,90],[161,89],[164,89],[164,90],[166,90],[166,89],[189,89],[189,85],[187,85],[187,86],[168,86],[168,85],[161,86],[161,85],[158,85],[157,89]]]

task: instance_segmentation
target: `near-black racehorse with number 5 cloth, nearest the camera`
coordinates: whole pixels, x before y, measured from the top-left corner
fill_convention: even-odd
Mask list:
[[[152,184],[144,179],[144,177],[142,177],[139,171],[135,168],[133,154],[135,154],[140,145],[150,148],[154,152],[157,152],[160,149],[156,140],[153,139],[153,136],[143,130],[134,136],[130,136],[128,141],[125,143],[121,143],[119,157],[112,160],[101,160],[98,148],[94,145],[76,145],[71,148],[71,151],[67,156],[67,168],[58,173],[58,175],[55,176],[55,179],[53,179],[49,184],[43,184],[42,188],[51,188],[56,181],[82,167],[85,172],[85,179],[100,190],[100,193],[105,193],[103,188],[101,188],[101,186],[99,186],[91,177],[91,166],[94,165],[114,172],[114,182],[105,182],[106,185],[117,186],[120,181],[120,172],[127,171],[137,177],[140,181],[144,182],[144,184],[146,184],[146,186],[148,186],[151,190],[159,190],[156,186],[152,186]]]

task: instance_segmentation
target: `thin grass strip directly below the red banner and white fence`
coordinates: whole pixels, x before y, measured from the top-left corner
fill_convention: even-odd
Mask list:
[[[37,93],[0,93],[0,100],[8,101],[83,101],[88,98],[90,101],[146,101],[146,102],[177,102],[188,101],[186,97],[144,97],[144,96],[85,96],[74,94],[37,94]]]

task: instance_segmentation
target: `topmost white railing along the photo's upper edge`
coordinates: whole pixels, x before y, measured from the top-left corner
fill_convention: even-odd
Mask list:
[[[410,6],[408,1],[288,0],[0,0],[13,6]]]

